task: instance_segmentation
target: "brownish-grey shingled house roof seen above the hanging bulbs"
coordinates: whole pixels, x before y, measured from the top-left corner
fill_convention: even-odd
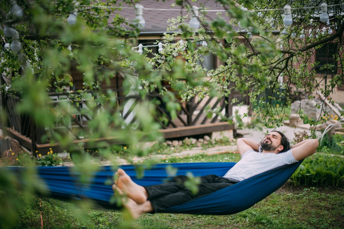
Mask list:
[[[117,1],[118,5],[119,1]],[[143,5],[143,19],[146,21],[146,25],[141,30],[141,34],[149,34],[149,33],[165,33],[167,32],[166,27],[168,26],[167,21],[171,18],[176,18],[179,15],[187,15],[187,11],[181,11],[182,7],[172,7],[172,3],[175,3],[175,0],[166,0],[166,1],[156,1],[156,0],[141,0],[140,4]],[[197,7],[206,7],[209,10],[224,10],[221,5],[216,2],[215,0],[198,0],[197,2],[191,2],[192,5],[196,5]],[[133,7],[133,5],[129,5],[123,3],[123,7]],[[151,9],[173,9],[173,10],[150,10]],[[184,8],[185,9],[185,8]],[[216,13],[218,11],[208,11],[206,14],[207,20],[212,20],[217,17]],[[135,10],[134,9],[121,9],[120,11],[115,11],[114,15],[119,13],[124,18],[127,18],[128,21],[135,20]],[[201,14],[201,12],[200,12]],[[226,12],[222,12],[222,18],[226,21],[229,21],[230,18],[226,16]],[[189,16],[189,19],[191,16]],[[110,18],[110,20],[112,20]],[[189,23],[189,21],[186,21]],[[130,28],[129,26],[126,26]]]

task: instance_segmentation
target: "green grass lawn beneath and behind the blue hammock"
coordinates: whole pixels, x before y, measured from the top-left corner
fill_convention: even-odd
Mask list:
[[[218,162],[238,161],[237,153],[198,154],[192,157],[168,158],[160,162]],[[0,192],[0,200],[3,192]],[[21,193],[15,194],[21,200]],[[230,197],[227,200],[230,201]],[[337,187],[294,187],[283,185],[255,206],[228,216],[146,214],[136,221],[125,220],[121,211],[87,209],[79,205],[34,197],[18,212],[14,228],[344,228],[344,185]]]

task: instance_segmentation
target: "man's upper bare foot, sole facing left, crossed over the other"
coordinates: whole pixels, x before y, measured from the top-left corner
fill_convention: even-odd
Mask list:
[[[115,184],[126,196],[137,204],[143,204],[147,201],[148,193],[146,188],[133,182],[130,176],[122,169],[118,169],[116,174],[118,181]]]

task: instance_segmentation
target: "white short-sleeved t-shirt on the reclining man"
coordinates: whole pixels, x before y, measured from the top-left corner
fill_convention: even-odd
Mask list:
[[[291,149],[284,153],[259,153],[253,149],[247,150],[232,169],[223,176],[239,181],[258,175],[270,169],[277,168],[283,164],[292,164],[297,162]]]

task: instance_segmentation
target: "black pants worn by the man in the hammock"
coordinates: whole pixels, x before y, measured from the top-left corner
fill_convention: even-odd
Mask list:
[[[199,176],[199,178],[201,183],[198,185],[198,192],[195,195],[185,188],[184,182],[187,180],[187,176],[185,175],[175,176],[167,183],[145,186],[144,188],[148,192],[148,200],[154,208],[153,213],[180,205],[195,197],[215,192],[239,182],[217,175]]]

